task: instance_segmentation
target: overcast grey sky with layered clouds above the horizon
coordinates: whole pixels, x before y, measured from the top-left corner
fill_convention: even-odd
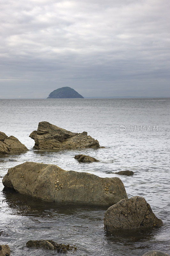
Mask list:
[[[169,0],[1,0],[0,98],[170,97]]]

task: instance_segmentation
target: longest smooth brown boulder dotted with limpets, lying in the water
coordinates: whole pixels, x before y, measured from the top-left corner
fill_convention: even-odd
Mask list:
[[[44,201],[109,206],[127,198],[122,181],[87,172],[65,171],[54,164],[25,162],[10,168],[3,184]]]

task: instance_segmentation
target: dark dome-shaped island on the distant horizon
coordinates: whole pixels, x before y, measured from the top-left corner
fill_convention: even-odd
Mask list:
[[[76,92],[74,89],[66,86],[58,88],[57,90],[54,90],[51,92],[47,99],[75,99],[75,98],[81,98],[84,99],[82,95],[80,95],[78,92]]]

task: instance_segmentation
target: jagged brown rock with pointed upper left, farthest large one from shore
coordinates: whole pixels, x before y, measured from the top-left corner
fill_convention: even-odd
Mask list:
[[[48,122],[40,122],[37,131],[30,138],[35,140],[35,149],[76,149],[99,148],[98,140],[87,135],[87,132],[69,132]]]

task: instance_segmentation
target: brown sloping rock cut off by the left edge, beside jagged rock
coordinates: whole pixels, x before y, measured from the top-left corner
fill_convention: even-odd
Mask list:
[[[18,154],[28,149],[14,136],[7,136],[4,132],[0,132],[0,155]]]

